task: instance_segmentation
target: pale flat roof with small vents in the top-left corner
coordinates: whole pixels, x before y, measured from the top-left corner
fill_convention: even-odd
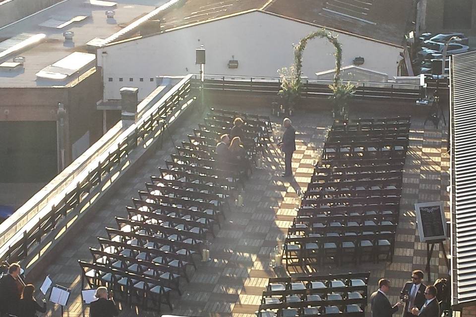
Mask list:
[[[114,7],[91,5],[87,0],[67,0],[44,11],[0,28],[0,41],[20,33],[43,33],[46,41],[32,45],[15,55],[25,57],[24,68],[18,71],[0,71],[0,88],[63,86],[51,80],[38,79],[36,74],[73,52],[87,52],[86,43],[94,38],[107,38],[133,20],[155,9],[167,0],[114,0]],[[106,11],[115,11],[114,18],[107,18]],[[78,21],[71,19],[78,16]],[[61,26],[64,22],[64,26]],[[40,26],[43,24],[43,26]],[[74,32],[73,40],[65,42],[63,32]],[[6,59],[11,61],[11,58]],[[73,76],[74,77],[74,76]]]

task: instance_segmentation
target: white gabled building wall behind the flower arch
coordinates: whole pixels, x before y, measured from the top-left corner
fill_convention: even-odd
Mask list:
[[[263,12],[250,12],[104,47],[98,51],[98,63],[103,66],[104,98],[119,99],[119,89],[132,86],[139,87],[139,99],[143,99],[156,87],[150,81],[155,76],[198,73],[195,49],[200,45],[206,49],[206,74],[278,77],[277,69],[293,63],[292,44],[316,29]],[[362,56],[362,67],[390,77],[397,75],[401,48],[335,34],[342,44],[343,66]],[[332,68],[333,54],[333,46],[325,39],[309,42],[304,52],[303,75],[315,78],[316,72]],[[238,60],[238,69],[228,68],[233,55]]]

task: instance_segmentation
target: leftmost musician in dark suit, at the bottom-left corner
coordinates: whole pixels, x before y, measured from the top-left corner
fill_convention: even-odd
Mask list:
[[[8,266],[8,274],[0,279],[0,313],[1,316],[18,316],[18,304],[23,291],[23,283],[19,280],[20,264]]]

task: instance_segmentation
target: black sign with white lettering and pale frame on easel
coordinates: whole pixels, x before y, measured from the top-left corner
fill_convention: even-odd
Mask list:
[[[443,202],[415,204],[415,211],[421,242],[446,239]]]

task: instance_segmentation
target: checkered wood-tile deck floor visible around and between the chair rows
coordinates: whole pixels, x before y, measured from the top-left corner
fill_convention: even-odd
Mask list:
[[[220,106],[221,107],[221,106]],[[207,110],[205,110],[207,111]],[[240,111],[265,113],[264,109],[241,108]],[[203,115],[204,113],[201,113]],[[384,114],[358,113],[358,117],[382,117]],[[81,230],[81,234],[57,252],[56,260],[43,275],[49,274],[54,283],[70,287],[72,295],[64,315],[87,316],[88,308],[81,304],[80,268],[77,259],[89,261],[89,247],[97,247],[97,236],[105,236],[105,226],[115,226],[114,216],[125,216],[125,206],[131,204],[130,197],[144,189],[150,175],[157,174],[157,166],[174,153],[175,145],[186,139],[191,128],[201,122],[199,114],[187,118],[175,130],[172,138],[135,173],[127,179],[119,191],[104,203],[93,220]],[[351,117],[357,117],[352,115]],[[272,118],[273,135],[281,135],[279,118]],[[173,314],[185,316],[254,316],[261,300],[261,293],[268,277],[284,274],[284,270],[273,271],[269,267],[269,253],[278,241],[283,241],[287,228],[296,215],[297,190],[304,191],[312,174],[312,163],[318,158],[316,150],[322,149],[326,129],[332,124],[330,112],[297,113],[293,118],[297,130],[297,151],[293,158],[294,178],[280,176],[284,167],[281,154],[274,144],[269,151],[264,169],[254,170],[246,182],[243,193],[244,207],[232,207],[217,238],[212,242],[213,261],[198,263],[197,270],[190,270],[190,283],[182,282],[182,296],[174,295]],[[399,291],[409,279],[412,269],[424,269],[426,264],[425,244],[418,240],[414,204],[443,200],[449,217],[448,193],[449,156],[446,152],[445,127],[435,129],[431,123],[423,126],[424,117],[412,117],[410,146],[403,175],[403,191],[400,205],[400,221],[393,263],[361,264],[358,267],[321,267],[320,272],[371,271],[369,294],[376,289],[377,280],[390,278],[392,289],[390,301],[396,302]],[[173,139],[173,142],[172,142]],[[175,142],[175,144],[174,144]],[[438,248],[438,247],[436,247]],[[434,257],[431,260],[430,278],[447,274],[445,261]],[[293,273],[293,272],[290,272]],[[28,281],[28,280],[27,280]],[[32,281],[28,281],[32,282]],[[41,280],[33,281],[37,288]],[[60,316],[60,307],[49,305],[45,316]],[[168,313],[165,307],[163,313]],[[369,311],[369,307],[367,307]],[[140,316],[156,316],[157,313],[141,312]],[[368,315],[368,314],[367,314]],[[124,309],[120,316],[136,316],[135,311]]]

